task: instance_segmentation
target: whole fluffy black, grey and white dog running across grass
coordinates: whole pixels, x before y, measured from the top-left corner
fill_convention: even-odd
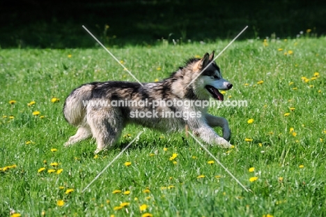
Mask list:
[[[93,136],[98,153],[113,147],[127,124],[136,123],[164,132],[184,130],[187,125],[204,142],[231,147],[228,121],[208,114],[207,104],[198,106],[210,97],[224,100],[219,90],[231,88],[214,61],[214,51],[201,59],[189,59],[184,67],[160,82],[83,84],[65,100],[64,117],[78,129],[64,145]],[[222,128],[223,137],[212,129],[215,126]]]

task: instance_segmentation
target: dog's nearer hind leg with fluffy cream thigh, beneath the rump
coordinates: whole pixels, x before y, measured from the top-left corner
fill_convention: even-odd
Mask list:
[[[97,148],[95,154],[112,147],[123,130],[121,112],[113,108],[91,109],[87,111],[87,123],[91,127]]]

